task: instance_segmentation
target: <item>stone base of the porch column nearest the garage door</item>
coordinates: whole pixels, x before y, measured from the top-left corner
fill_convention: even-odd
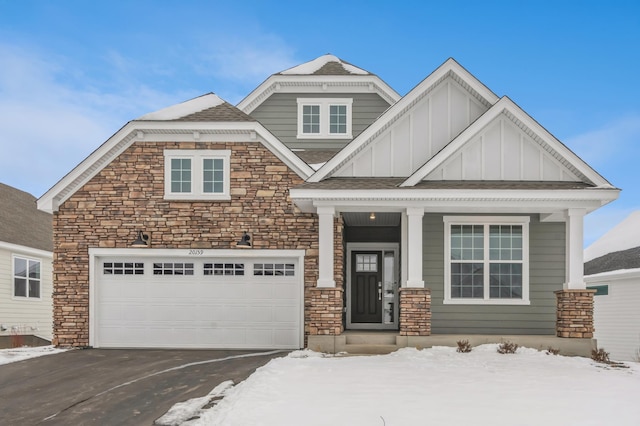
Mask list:
[[[342,327],[342,288],[308,287],[305,298],[305,334],[339,335]]]

